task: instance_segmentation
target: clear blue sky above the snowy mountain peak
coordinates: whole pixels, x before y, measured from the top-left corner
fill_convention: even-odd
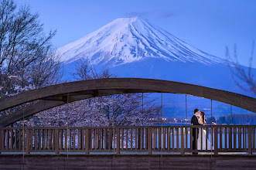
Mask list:
[[[225,46],[248,66],[256,40],[254,0],[19,0],[39,12],[44,29],[56,29],[56,48],[101,28],[114,19],[140,16],[204,52],[225,58]],[[254,46],[255,47],[255,46]],[[256,53],[256,52],[255,52]],[[255,55],[254,55],[255,56]],[[256,67],[254,57],[253,67]]]

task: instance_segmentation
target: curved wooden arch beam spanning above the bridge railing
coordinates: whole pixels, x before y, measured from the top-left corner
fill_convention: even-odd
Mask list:
[[[217,100],[256,113],[256,99],[238,93],[166,80],[109,78],[61,83],[36,90],[30,90],[1,100],[0,111],[35,100],[39,100],[39,102],[23,107],[15,113],[2,117],[0,127],[5,127],[15,121],[19,121],[22,117],[29,117],[40,111],[67,104],[67,102],[120,93],[189,94],[196,97]]]

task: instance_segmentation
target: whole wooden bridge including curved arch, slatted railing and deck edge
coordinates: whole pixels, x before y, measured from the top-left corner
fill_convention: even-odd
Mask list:
[[[0,168],[256,167],[255,125],[5,128],[15,121],[52,107],[120,93],[189,94],[256,113],[256,99],[253,97],[165,80],[115,78],[43,87],[0,100],[0,111],[20,108],[0,119]],[[26,104],[26,107],[21,107],[22,104]],[[210,149],[208,146],[205,150],[192,149],[192,128],[196,128],[196,135],[200,128],[206,131],[205,141],[202,139],[198,142],[208,145],[209,140]],[[193,151],[200,152],[200,155],[191,155]]]

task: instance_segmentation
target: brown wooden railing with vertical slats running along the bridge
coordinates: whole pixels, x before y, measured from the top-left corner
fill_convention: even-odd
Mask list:
[[[255,148],[256,126],[139,126],[99,128],[0,128],[2,154],[49,152],[154,153],[247,152]],[[193,150],[193,129],[196,149]],[[202,138],[200,138],[202,137]]]

